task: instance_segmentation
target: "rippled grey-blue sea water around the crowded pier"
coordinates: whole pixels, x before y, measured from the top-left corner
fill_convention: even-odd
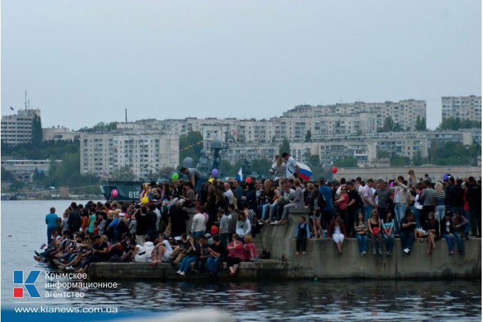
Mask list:
[[[83,201],[79,201],[83,203]],[[32,258],[46,240],[45,215],[69,201],[1,202],[1,300],[13,307],[12,270],[48,270]],[[45,274],[37,281],[45,292]],[[124,282],[114,290],[86,290],[83,299],[116,306],[119,312],[174,312],[217,308],[239,321],[405,320],[481,321],[481,281],[278,281],[278,282]],[[65,306],[59,299],[42,299]],[[25,303],[23,303],[25,305]]]

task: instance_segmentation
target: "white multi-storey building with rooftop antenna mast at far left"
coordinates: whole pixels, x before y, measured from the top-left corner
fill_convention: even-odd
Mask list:
[[[40,117],[40,110],[18,110],[16,115],[1,117],[1,141],[8,144],[32,142],[32,123],[34,116]]]

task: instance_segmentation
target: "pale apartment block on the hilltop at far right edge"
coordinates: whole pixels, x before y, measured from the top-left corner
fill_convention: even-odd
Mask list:
[[[482,97],[481,96],[460,96],[442,97],[442,118],[457,117],[470,121],[482,121]]]

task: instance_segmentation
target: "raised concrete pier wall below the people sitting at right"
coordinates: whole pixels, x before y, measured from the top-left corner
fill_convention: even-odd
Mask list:
[[[448,253],[445,239],[436,242],[431,254],[426,254],[426,240],[414,242],[411,254],[402,252],[400,239],[395,239],[392,256],[372,254],[372,241],[368,241],[365,256],[359,254],[357,239],[346,239],[342,254],[332,239],[308,239],[306,254],[296,255],[295,229],[300,215],[308,219],[308,210],[290,209],[286,225],[265,225],[262,231],[264,248],[270,250],[272,259],[282,259],[290,263],[288,276],[293,278],[347,278],[367,277],[373,279],[411,278],[480,278],[482,270],[481,239],[464,240],[465,254]]]

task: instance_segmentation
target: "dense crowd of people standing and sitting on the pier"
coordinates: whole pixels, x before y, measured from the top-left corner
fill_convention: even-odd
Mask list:
[[[432,183],[407,177],[388,182],[358,177],[339,181],[303,181],[289,154],[277,157],[273,179],[245,181],[210,178],[201,182],[195,169],[182,168],[188,181],[144,183],[139,202],[72,202],[62,217],[46,216],[47,248],[34,258],[66,270],[86,272],[100,261],[178,265],[177,273],[216,275],[226,261],[231,275],[242,261],[257,261],[253,238],[264,225],[285,225],[290,208],[308,208],[298,219],[296,254],[306,254],[307,239],[333,239],[337,254],[344,241],[356,238],[364,256],[368,240],[373,254],[393,254],[395,238],[411,253],[417,238],[426,238],[427,254],[446,239],[449,254],[464,254],[464,239],[481,237],[481,181],[473,177]],[[195,216],[190,227],[188,208]],[[206,266],[206,269],[205,269]]]

